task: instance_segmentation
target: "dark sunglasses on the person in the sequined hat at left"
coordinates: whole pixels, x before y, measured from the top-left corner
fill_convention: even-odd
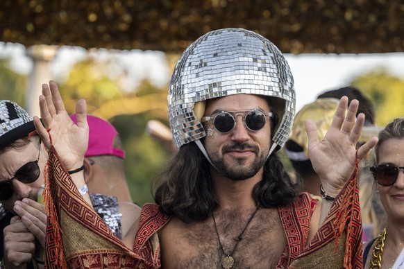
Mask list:
[[[11,198],[12,193],[14,193],[14,186],[11,183],[11,180],[18,180],[24,184],[29,184],[35,182],[40,176],[40,166],[38,166],[38,161],[40,160],[41,153],[41,141],[39,146],[38,157],[36,161],[27,162],[23,166],[21,166],[17,172],[15,172],[14,177],[11,177],[10,180],[4,180],[0,182],[0,200],[5,201]]]

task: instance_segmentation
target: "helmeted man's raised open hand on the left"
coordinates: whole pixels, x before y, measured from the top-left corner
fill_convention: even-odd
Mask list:
[[[51,148],[51,145],[54,146],[67,170],[71,171],[83,166],[88,146],[85,101],[79,100],[76,104],[76,125],[65,110],[58,86],[51,80],[49,85],[42,85],[40,111],[43,125],[37,116],[34,116],[34,123],[44,145],[48,149]],[[47,129],[49,129],[49,133]]]

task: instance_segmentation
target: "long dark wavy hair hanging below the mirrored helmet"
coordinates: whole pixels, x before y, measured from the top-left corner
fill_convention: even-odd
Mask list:
[[[298,196],[297,183],[287,175],[276,153],[264,164],[264,175],[255,184],[253,199],[260,207],[287,205]],[[186,223],[205,220],[217,207],[210,164],[195,143],[188,143],[167,164],[155,182],[156,204],[165,214]]]

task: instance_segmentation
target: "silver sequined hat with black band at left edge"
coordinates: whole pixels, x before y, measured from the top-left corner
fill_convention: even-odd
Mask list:
[[[0,100],[0,149],[35,130],[33,119],[17,103]]]

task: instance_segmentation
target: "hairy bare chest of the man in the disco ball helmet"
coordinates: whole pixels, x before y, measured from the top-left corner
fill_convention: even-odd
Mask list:
[[[228,256],[234,260],[233,268],[276,267],[286,246],[278,211],[258,211],[241,240],[236,240],[248,218],[217,216],[217,229],[212,218],[191,224],[174,218],[160,234],[162,268],[221,268]]]

